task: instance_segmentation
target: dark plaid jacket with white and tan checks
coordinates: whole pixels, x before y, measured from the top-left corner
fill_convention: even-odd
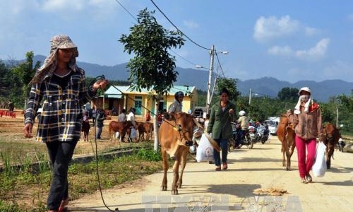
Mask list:
[[[37,141],[74,141],[80,138],[83,114],[81,106],[95,97],[85,86],[85,71],[73,71],[66,88],[61,88],[47,75],[41,83],[34,84],[25,110],[25,124],[34,123],[35,114],[42,102],[38,120]]]

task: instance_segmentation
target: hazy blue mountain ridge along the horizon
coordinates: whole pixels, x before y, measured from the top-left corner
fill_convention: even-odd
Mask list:
[[[33,61],[40,61],[43,63],[45,57],[36,55]],[[127,81],[129,77],[126,64],[118,64],[114,66],[102,66],[98,64],[90,64],[88,62],[77,61],[80,68],[85,70],[86,76],[104,75],[107,79],[114,81]],[[175,86],[195,86],[199,90],[207,90],[208,71],[200,69],[184,69],[177,67],[176,71],[179,73]],[[316,81],[297,81],[296,83],[289,83],[288,81],[280,81],[274,77],[268,76],[258,79],[250,79],[241,81],[237,79],[237,88],[241,95],[263,95],[270,98],[277,98],[277,94],[282,88],[302,88],[309,87],[312,90],[312,96],[315,100],[320,102],[328,102],[329,98],[335,95],[350,95],[353,90],[353,82],[342,80],[325,80],[321,82]]]

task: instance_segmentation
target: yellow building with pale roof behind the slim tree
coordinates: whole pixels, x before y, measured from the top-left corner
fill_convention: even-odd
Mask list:
[[[158,111],[163,109],[168,110],[169,105],[174,102],[174,93],[182,91],[185,95],[183,100],[183,112],[189,112],[195,109],[198,101],[198,93],[194,86],[174,86],[169,92],[160,100]],[[136,116],[145,116],[148,110],[152,116],[155,112],[155,100],[152,99],[153,91],[143,89],[141,92],[129,89],[129,86],[110,86],[105,91],[104,96],[93,100],[93,105],[97,108],[105,110],[112,110],[114,108],[115,114],[119,114],[123,108],[129,110],[135,107]]]

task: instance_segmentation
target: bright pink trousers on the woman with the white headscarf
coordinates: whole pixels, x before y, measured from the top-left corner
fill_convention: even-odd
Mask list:
[[[309,139],[305,141],[304,139],[295,136],[295,145],[297,147],[298,154],[298,169],[299,176],[305,177],[309,174],[311,167],[315,161],[316,156],[316,139]],[[306,151],[308,154],[306,155]]]

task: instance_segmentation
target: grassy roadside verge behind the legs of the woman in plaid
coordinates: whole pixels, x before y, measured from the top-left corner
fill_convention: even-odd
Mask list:
[[[86,194],[92,194],[100,187],[111,189],[124,182],[131,182],[144,175],[162,170],[160,152],[140,148],[132,155],[113,157],[79,164],[73,163],[68,170],[71,201]],[[52,171],[42,167],[33,170],[30,165],[0,173],[0,211],[45,211],[45,202],[52,179]]]

